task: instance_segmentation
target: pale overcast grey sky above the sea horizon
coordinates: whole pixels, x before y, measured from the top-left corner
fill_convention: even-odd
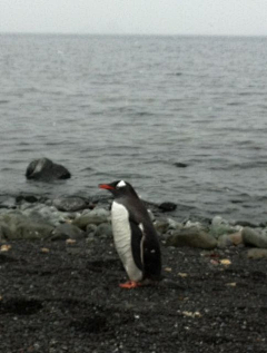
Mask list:
[[[267,0],[0,0],[0,32],[267,36]]]

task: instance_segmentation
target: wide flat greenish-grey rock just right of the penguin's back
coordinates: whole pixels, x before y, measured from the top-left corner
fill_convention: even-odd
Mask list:
[[[166,239],[167,246],[191,246],[205,249],[215,248],[217,241],[208,233],[198,229],[197,227],[184,228],[175,231]]]

